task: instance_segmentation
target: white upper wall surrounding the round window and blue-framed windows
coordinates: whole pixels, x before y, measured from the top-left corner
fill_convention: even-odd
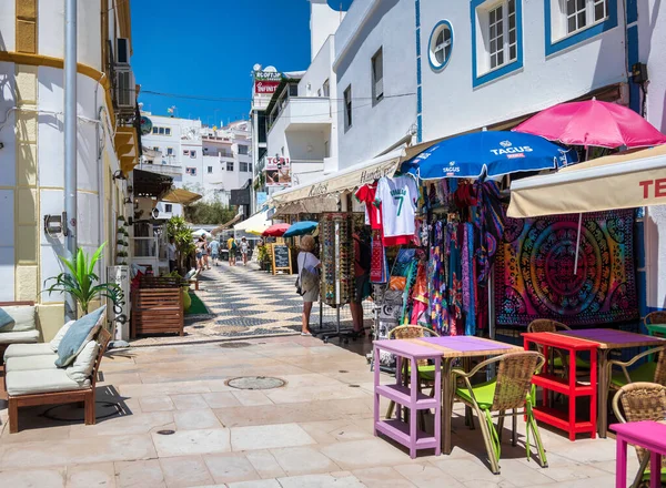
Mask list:
[[[546,58],[544,1],[522,0],[524,67],[475,89],[470,2],[421,0],[423,140],[511,120],[625,81],[624,7],[609,1],[618,3],[616,28]],[[442,20],[453,27],[453,52],[436,72],[428,63],[428,42]]]

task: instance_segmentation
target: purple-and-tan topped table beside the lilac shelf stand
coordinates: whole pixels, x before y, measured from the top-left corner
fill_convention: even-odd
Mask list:
[[[453,386],[451,384],[451,365],[455,358],[472,358],[472,357],[485,357],[485,356],[497,356],[506,353],[521,353],[523,347],[514,346],[511,344],[500,343],[497,340],[486,339],[475,336],[448,336],[448,337],[418,337],[413,339],[383,339],[375,340],[375,364],[379,363],[377,348],[389,350],[395,354],[397,357],[414,357],[420,358],[442,358],[442,404],[441,408],[441,421],[437,421],[435,416],[435,423],[441,424],[442,434],[441,438],[444,441],[444,453],[451,454],[451,415],[453,411]],[[416,377],[414,376],[416,367],[412,364],[412,385],[414,385]],[[437,377],[440,367],[435,366],[435,379]],[[379,384],[379,368],[375,368],[375,385]],[[397,368],[396,376],[400,378],[400,365]],[[379,421],[379,408],[375,405],[375,425]],[[414,416],[413,416],[414,417]],[[415,420],[414,420],[415,421]],[[437,428],[437,427],[435,427]]]

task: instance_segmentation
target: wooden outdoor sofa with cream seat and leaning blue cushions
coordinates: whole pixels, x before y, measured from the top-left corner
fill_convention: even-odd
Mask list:
[[[4,352],[9,431],[19,431],[19,407],[83,403],[85,425],[95,423],[95,383],[111,334],[105,307],[68,322],[53,340],[12,344]]]

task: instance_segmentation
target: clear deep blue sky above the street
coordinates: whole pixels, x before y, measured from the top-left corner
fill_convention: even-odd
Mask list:
[[[352,0],[329,3],[347,9]],[[167,115],[175,105],[178,116],[226,123],[248,116],[255,63],[280,71],[307,68],[310,6],[306,0],[139,0],[132,2],[132,41],[144,110]]]

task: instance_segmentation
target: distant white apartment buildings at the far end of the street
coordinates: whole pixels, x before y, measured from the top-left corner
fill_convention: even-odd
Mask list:
[[[249,122],[216,129],[202,126],[199,120],[142,114],[152,123],[151,133],[142,138],[142,170],[171,176],[176,187],[223,205],[229,205],[231,190],[252,177]],[[157,207],[159,218],[182,215],[182,206],[175,203],[160,202]]]

